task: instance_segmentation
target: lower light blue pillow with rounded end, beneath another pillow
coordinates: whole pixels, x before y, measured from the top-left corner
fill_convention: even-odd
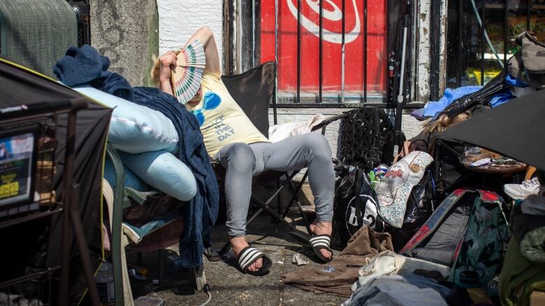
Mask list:
[[[167,151],[140,154],[119,152],[123,164],[152,188],[189,201],[197,192],[195,176],[183,162]]]

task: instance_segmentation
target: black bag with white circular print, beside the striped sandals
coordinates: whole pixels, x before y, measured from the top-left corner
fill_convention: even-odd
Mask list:
[[[333,247],[344,249],[363,225],[384,231],[385,224],[377,213],[377,197],[365,171],[354,168],[337,179],[335,185]]]

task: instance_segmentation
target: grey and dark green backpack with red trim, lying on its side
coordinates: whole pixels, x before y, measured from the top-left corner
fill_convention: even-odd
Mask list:
[[[451,266],[456,286],[484,286],[500,269],[509,239],[503,204],[494,192],[455,190],[400,253]]]

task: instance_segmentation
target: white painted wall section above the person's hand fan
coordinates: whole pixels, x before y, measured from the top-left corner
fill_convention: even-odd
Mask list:
[[[222,0],[157,0],[159,11],[159,54],[180,49],[191,35],[208,26],[214,32],[222,63]]]

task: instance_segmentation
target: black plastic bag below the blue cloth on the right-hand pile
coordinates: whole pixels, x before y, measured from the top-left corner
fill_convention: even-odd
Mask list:
[[[491,98],[509,87],[509,84],[505,82],[506,77],[507,70],[504,69],[499,75],[496,75],[490,82],[486,83],[482,89],[479,89],[479,91],[464,95],[452,102],[451,105],[439,113],[437,118],[442,114],[446,114],[449,118],[454,118],[466,110],[471,110],[476,105],[488,105]]]

